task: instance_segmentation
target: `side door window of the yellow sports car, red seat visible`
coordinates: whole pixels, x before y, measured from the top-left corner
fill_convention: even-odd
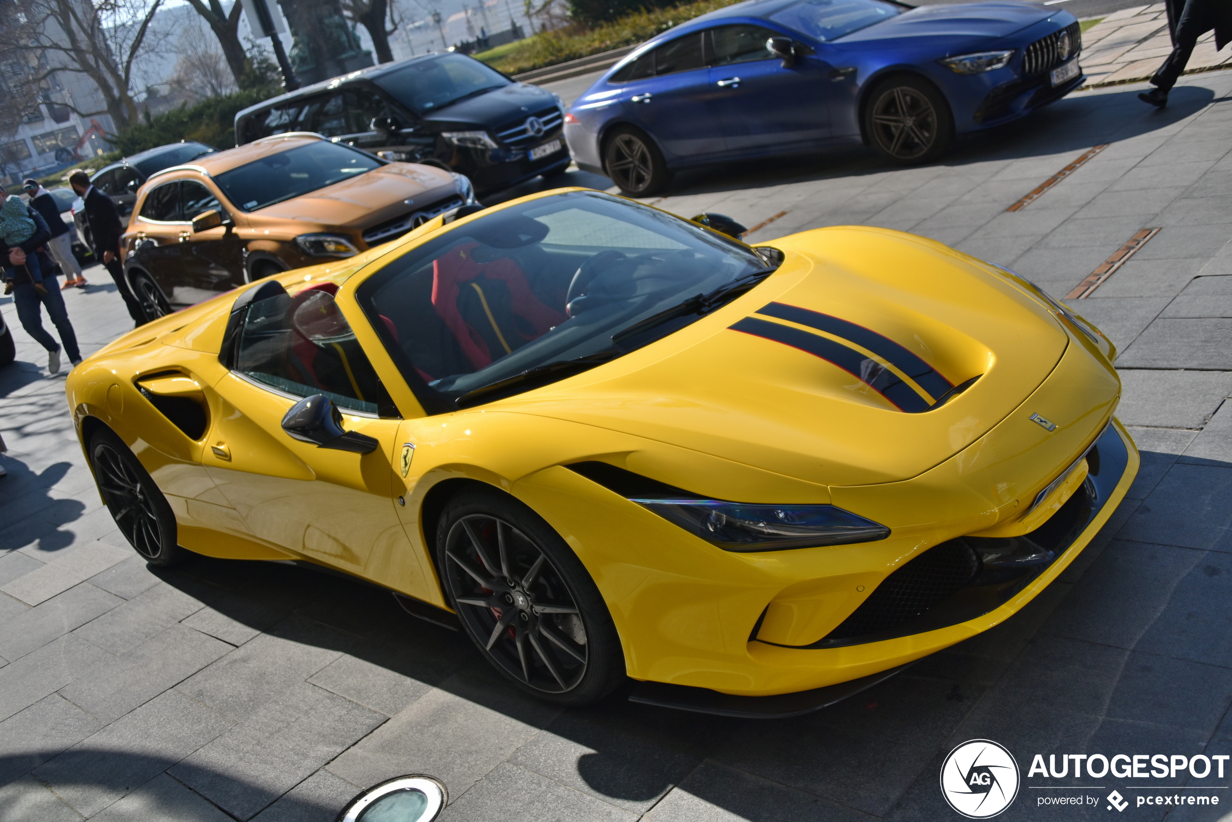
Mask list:
[[[377,414],[392,403],[331,288],[254,302],[240,328],[235,370],[296,397],[323,393],[341,408]]]

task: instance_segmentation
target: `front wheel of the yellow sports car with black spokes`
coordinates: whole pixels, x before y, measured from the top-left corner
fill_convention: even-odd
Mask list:
[[[437,529],[442,582],[467,635],[520,688],[589,705],[625,682],[599,590],[551,526],[499,492],[464,492]]]

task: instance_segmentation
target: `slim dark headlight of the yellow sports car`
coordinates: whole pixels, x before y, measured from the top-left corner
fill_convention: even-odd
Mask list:
[[[724,551],[782,551],[875,542],[890,529],[834,505],[763,505],[718,499],[631,499]]]

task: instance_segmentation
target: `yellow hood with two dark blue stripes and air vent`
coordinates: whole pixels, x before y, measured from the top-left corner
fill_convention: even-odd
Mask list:
[[[774,244],[784,265],[728,306],[500,404],[822,484],[896,482],[1005,419],[1068,344],[1042,304],[939,243],[845,227]]]

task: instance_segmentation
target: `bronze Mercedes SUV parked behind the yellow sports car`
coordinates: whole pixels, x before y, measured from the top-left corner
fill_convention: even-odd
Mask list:
[[[154,319],[354,256],[474,202],[461,174],[389,163],[320,134],[278,134],[152,175],[124,232],[124,271]]]

